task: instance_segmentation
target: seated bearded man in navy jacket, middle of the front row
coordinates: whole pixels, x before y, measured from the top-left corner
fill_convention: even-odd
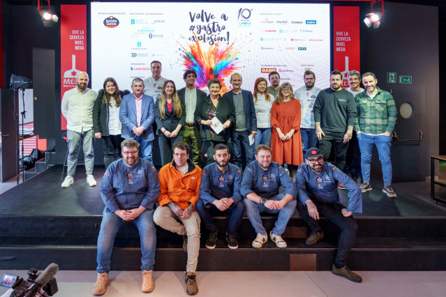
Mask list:
[[[228,163],[231,155],[225,144],[217,144],[214,147],[214,163],[203,169],[200,185],[200,200],[197,201],[197,211],[200,214],[209,238],[206,248],[213,249],[217,240],[217,227],[212,220],[212,214],[228,213],[230,215],[226,241],[228,248],[236,249],[237,229],[245,212],[245,205],[241,201],[240,182],[241,170],[239,167]]]

